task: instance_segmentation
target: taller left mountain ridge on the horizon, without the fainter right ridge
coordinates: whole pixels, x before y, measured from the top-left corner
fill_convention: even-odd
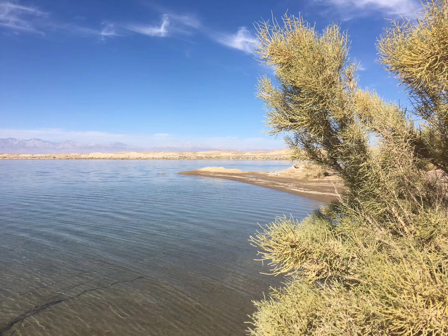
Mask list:
[[[12,154],[57,154],[57,153],[113,153],[134,151],[131,147],[122,142],[105,144],[85,144],[66,140],[63,142],[51,142],[41,139],[20,140],[14,138],[0,139],[0,153]]]

